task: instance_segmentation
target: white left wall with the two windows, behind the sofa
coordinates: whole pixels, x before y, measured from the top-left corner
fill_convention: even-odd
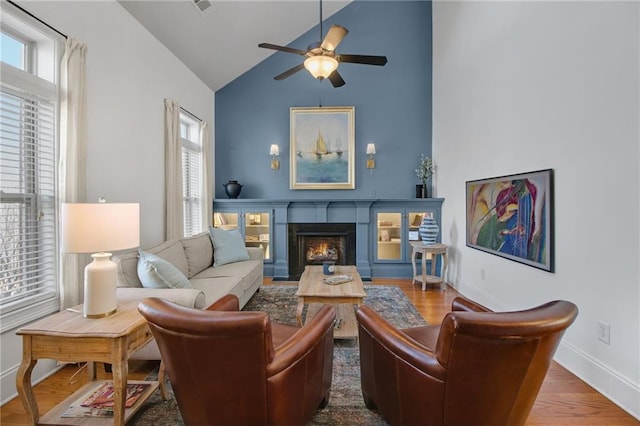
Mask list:
[[[17,3],[88,46],[88,201],[139,202],[141,246],[163,241],[163,100],[213,125],[214,93],[113,0]],[[0,345],[5,402],[16,394],[22,341],[11,330]],[[52,366],[41,364],[35,380]]]

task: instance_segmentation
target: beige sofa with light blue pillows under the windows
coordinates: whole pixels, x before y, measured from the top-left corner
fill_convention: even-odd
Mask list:
[[[143,250],[177,267],[189,278],[193,288],[144,288],[138,278],[138,250],[128,250],[114,256],[118,265],[118,303],[161,297],[182,306],[202,309],[225,294],[234,294],[240,299],[242,308],[262,285],[262,249],[247,247],[249,260],[214,267],[215,253],[208,232]],[[160,352],[153,341],[131,358],[160,359]]]

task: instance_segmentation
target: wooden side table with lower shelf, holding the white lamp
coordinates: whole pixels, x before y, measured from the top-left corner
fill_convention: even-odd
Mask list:
[[[39,320],[18,330],[22,335],[23,355],[16,387],[20,400],[36,424],[114,424],[124,425],[126,420],[140,408],[159,385],[166,399],[164,383],[151,383],[149,389],[131,408],[125,409],[129,355],[144,346],[153,337],[145,319],[138,312],[137,303],[118,306],[115,314],[104,318],[88,319],[82,316],[82,306],[65,310]],[[38,403],[31,387],[31,372],[38,359],[47,358],[63,362],[88,361],[89,383],[65,399],[45,416],[40,418]],[[114,395],[113,418],[63,418],[68,405],[97,388],[104,381],[96,381],[94,362],[112,364]],[[161,369],[164,366],[161,365]],[[141,383],[141,382],[136,382]]]

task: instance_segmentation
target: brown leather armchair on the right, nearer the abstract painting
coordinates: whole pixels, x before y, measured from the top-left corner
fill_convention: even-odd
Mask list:
[[[492,312],[456,298],[441,325],[399,330],[361,306],[365,404],[393,425],[523,425],[577,314],[566,301]]]

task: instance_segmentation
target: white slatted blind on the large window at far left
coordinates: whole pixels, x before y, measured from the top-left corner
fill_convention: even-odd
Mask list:
[[[44,96],[43,96],[44,94]],[[56,99],[0,85],[0,311],[55,296]]]

